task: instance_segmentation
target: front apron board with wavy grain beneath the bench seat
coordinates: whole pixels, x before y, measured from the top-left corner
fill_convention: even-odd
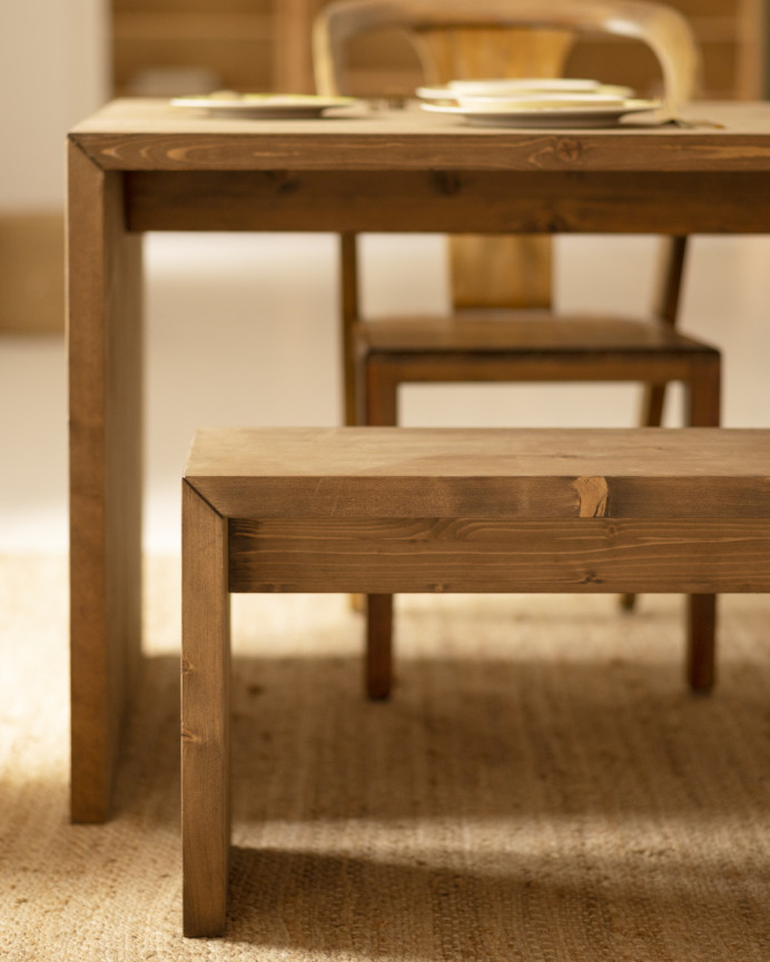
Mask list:
[[[766,592],[770,522],[230,522],[234,592]]]

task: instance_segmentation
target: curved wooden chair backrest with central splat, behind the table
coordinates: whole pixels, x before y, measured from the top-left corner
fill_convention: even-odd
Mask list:
[[[671,111],[691,99],[700,76],[698,46],[684,17],[646,0],[337,0],[314,22],[317,91],[349,92],[349,42],[384,29],[406,31],[425,80],[434,83],[562,76],[582,33],[646,44],[660,65]],[[550,238],[455,236],[450,251],[456,308],[550,305]]]

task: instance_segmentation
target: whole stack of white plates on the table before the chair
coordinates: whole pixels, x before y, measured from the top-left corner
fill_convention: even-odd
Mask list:
[[[629,87],[598,80],[453,80],[419,87],[424,110],[455,113],[486,127],[612,127],[629,113],[658,110]]]

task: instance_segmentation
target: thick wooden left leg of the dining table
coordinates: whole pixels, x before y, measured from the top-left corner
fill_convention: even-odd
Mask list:
[[[122,176],[68,155],[71,816],[109,816],[141,654],[141,237]]]

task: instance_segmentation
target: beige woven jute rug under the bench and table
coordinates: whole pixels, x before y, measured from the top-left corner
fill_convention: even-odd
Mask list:
[[[371,704],[346,598],[236,598],[228,932],[184,940],[178,577],[72,826],[66,559],[0,558],[1,959],[770,960],[770,599],[722,601],[693,697],[678,597],[399,598]]]

